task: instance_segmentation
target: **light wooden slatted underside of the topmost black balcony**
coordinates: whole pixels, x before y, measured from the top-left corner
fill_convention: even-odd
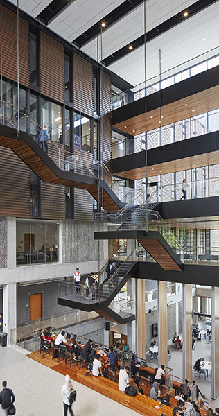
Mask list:
[[[216,110],[216,108],[219,108],[219,85],[164,105],[161,109],[159,107],[147,112],[147,131],[159,128],[161,125],[189,119],[189,117]],[[139,114],[131,119],[121,121],[121,123],[116,123],[114,127],[132,136],[140,135],[146,131],[146,114]]]

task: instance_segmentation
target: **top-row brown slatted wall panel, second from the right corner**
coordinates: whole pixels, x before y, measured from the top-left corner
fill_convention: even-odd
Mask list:
[[[88,116],[94,114],[93,66],[76,53],[73,54],[73,105]]]

